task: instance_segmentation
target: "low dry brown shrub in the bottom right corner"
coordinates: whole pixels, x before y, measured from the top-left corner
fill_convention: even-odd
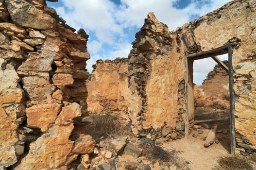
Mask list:
[[[235,156],[221,157],[218,164],[214,170],[254,170],[247,160]]]

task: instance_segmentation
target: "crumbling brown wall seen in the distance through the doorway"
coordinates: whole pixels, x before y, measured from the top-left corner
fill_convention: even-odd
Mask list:
[[[227,61],[224,61],[227,65]],[[203,85],[194,84],[195,109],[229,109],[228,72],[215,65],[207,75]]]

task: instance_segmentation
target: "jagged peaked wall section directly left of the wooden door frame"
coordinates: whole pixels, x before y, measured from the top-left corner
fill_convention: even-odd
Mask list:
[[[129,116],[134,132],[159,140],[184,135],[185,64],[179,35],[148,14],[129,54]],[[135,105],[136,103],[136,105]]]

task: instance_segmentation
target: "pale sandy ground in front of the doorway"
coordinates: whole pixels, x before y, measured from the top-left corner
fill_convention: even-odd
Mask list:
[[[162,147],[171,151],[176,149],[176,155],[187,161],[188,167],[191,170],[212,170],[217,164],[217,161],[222,156],[230,154],[230,137],[227,129],[221,133],[217,133],[217,137],[221,140],[220,143],[213,143],[208,148],[204,147],[204,136],[207,136],[208,129],[203,130],[204,134],[193,137],[192,132],[188,138],[174,140],[168,143],[163,143]],[[224,134],[224,135],[223,135]]]

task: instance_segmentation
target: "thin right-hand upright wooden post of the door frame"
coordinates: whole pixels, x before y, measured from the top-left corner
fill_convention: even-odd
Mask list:
[[[230,95],[230,140],[231,154],[235,154],[236,132],[235,132],[235,92],[234,92],[234,70],[232,66],[232,46],[228,47],[228,77],[229,77],[229,95]]]

